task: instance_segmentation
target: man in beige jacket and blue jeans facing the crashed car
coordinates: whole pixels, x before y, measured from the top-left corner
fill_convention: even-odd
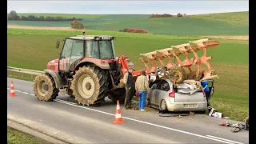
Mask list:
[[[146,105],[146,93],[150,89],[150,87],[149,82],[146,78],[145,70],[142,70],[141,75],[138,76],[135,82],[135,89],[138,90],[138,110],[146,111],[144,110],[144,107]]]

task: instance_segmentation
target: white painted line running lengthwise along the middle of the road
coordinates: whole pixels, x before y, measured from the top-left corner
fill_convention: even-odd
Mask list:
[[[7,90],[10,90],[10,89],[7,88]],[[21,91],[21,93],[24,93],[24,92]],[[29,93],[27,93],[27,94],[29,94]],[[34,95],[34,94],[30,94],[30,95]],[[98,113],[102,113],[102,114],[115,115],[115,114],[110,114],[110,113],[107,113],[107,112],[104,112],[104,111],[101,111],[101,110],[94,110],[94,109],[91,109],[87,106],[79,106],[77,103],[66,102],[66,101],[63,101],[63,100],[58,99],[58,98],[54,99],[54,101],[65,103],[65,104],[70,105],[70,106],[77,106],[77,107],[80,107],[80,108],[83,108],[83,109],[86,109],[86,110],[97,111]],[[161,125],[157,125],[157,124],[150,123],[150,122],[140,121],[140,120],[137,120],[137,119],[134,119],[134,118],[128,118],[128,117],[122,117],[122,118],[126,118],[126,119],[129,119],[129,120],[134,121],[134,122],[141,122],[141,123],[144,123],[144,124],[147,124],[147,125],[150,125],[150,126],[160,127],[160,128],[166,129],[166,130],[173,130],[173,131],[177,131],[177,132],[180,132],[180,133],[183,133],[183,134],[190,134],[190,135],[194,135],[194,136],[197,136],[197,137],[200,137],[200,138],[210,139],[210,140],[217,141],[217,142],[230,143],[230,144],[232,144],[232,142],[234,142],[234,143],[238,143],[238,144],[243,144],[241,142],[235,142],[235,141],[231,141],[231,140],[228,140],[228,139],[218,138],[218,137],[214,137],[214,136],[210,136],[210,135],[203,136],[203,135],[200,135],[200,134],[194,134],[194,133],[190,133],[190,132],[183,131],[183,130],[177,130],[177,129],[170,128],[170,127],[167,127],[167,126],[161,126]]]

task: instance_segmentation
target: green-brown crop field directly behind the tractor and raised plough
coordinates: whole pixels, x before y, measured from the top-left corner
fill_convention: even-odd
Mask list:
[[[140,53],[200,39],[190,36],[94,30],[88,30],[87,34],[116,36],[114,41],[116,55],[124,54],[130,58],[134,62],[135,70],[144,68],[142,62],[139,61]],[[47,62],[58,58],[61,51],[61,48],[56,49],[54,47],[56,40],[73,35],[75,35],[74,30],[8,29],[8,66],[32,70],[46,69]],[[248,41],[220,39],[219,42],[219,46],[207,50],[207,55],[213,56],[213,59],[210,60],[211,66],[219,76],[219,79],[215,79],[214,95],[210,99],[210,103],[225,116],[235,120],[243,120],[249,114]],[[198,52],[198,54],[201,55],[202,52]]]

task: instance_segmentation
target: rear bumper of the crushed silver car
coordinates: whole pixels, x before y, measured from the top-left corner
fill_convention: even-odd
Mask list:
[[[170,102],[166,103],[169,111],[204,111],[207,110],[207,102]],[[186,107],[186,105],[194,105]]]

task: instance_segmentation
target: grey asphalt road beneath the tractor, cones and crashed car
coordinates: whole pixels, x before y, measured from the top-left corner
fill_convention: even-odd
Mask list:
[[[10,81],[16,97],[10,97]],[[34,97],[33,82],[7,78],[7,116],[46,134],[74,143],[249,143],[249,131],[232,133],[218,126],[226,119],[203,114],[159,117],[158,111],[122,111],[126,123],[114,124],[116,105],[106,98],[101,106],[79,106],[59,95],[54,102]],[[121,106],[122,107],[122,106]],[[232,122],[232,121],[230,121]]]

